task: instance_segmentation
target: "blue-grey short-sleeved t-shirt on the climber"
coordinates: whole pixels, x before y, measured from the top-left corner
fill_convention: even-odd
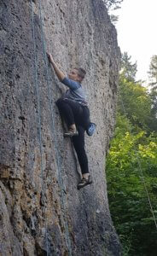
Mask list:
[[[61,83],[67,85],[69,88],[63,96],[64,98],[71,99],[82,105],[87,105],[86,96],[81,84],[68,78],[63,79]]]

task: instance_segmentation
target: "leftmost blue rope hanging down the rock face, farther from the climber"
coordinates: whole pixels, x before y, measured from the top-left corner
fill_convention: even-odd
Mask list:
[[[38,102],[38,142],[39,142],[39,148],[40,148],[40,155],[41,155],[41,162],[40,162],[40,168],[41,168],[41,178],[42,178],[42,196],[44,195],[44,164],[43,164],[43,147],[42,147],[42,131],[41,131],[41,111],[40,111],[40,96],[39,96],[39,88],[38,88],[38,64],[37,64],[37,56],[36,56],[36,40],[35,40],[35,30],[34,30],[34,15],[33,15],[33,7],[32,7],[32,0],[31,0],[31,9],[32,9],[32,40],[33,40],[33,49],[34,49],[34,79],[35,79],[35,86],[36,86],[36,92],[37,92],[37,102]],[[45,213],[45,212],[44,212]],[[46,224],[46,248],[47,252],[46,255],[49,256],[49,245],[48,245],[48,234],[47,234],[47,223]]]

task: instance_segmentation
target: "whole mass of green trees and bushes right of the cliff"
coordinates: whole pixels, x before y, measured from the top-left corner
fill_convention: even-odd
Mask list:
[[[117,125],[107,159],[108,200],[123,255],[155,256],[157,229],[157,56],[150,90],[136,81],[137,64],[122,56]]]

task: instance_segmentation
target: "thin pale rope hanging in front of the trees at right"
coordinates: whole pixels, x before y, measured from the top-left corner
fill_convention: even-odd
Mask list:
[[[124,105],[124,102],[122,100],[122,97],[121,97],[121,94],[119,93],[119,98],[120,98],[120,102],[122,104],[122,108],[123,108],[123,111],[125,113],[125,117],[127,117],[127,114],[126,114],[126,111],[125,111],[125,105]],[[129,127],[129,131],[131,133],[131,128]],[[156,230],[157,230],[157,222],[156,222],[156,218],[154,216],[154,209],[152,207],[152,203],[151,203],[151,200],[150,200],[150,196],[148,194],[148,189],[147,189],[147,185],[146,185],[146,182],[145,182],[145,179],[144,179],[144,175],[143,175],[143,172],[142,172],[142,166],[141,166],[141,160],[137,154],[137,150],[135,151],[136,152],[136,157],[137,157],[137,163],[138,163],[138,166],[139,166],[139,170],[140,170],[140,173],[141,173],[141,177],[142,177],[142,183],[143,183],[143,186],[144,186],[144,189],[145,189],[145,192],[146,192],[146,195],[147,195],[147,198],[148,198],[148,204],[149,204],[149,207],[150,207],[150,212],[152,213],[152,217],[154,219],[154,225],[156,227]]]

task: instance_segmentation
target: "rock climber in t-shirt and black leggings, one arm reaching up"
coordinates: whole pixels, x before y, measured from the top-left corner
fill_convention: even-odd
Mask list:
[[[86,72],[83,68],[73,68],[66,76],[61,72],[52,55],[49,53],[47,55],[56,76],[62,84],[69,88],[55,103],[67,123],[68,131],[64,133],[64,137],[72,138],[73,146],[78,155],[78,162],[82,172],[82,179],[78,183],[78,189],[82,189],[92,183],[88,158],[84,149],[84,131],[90,124],[90,111],[81,84]]]

